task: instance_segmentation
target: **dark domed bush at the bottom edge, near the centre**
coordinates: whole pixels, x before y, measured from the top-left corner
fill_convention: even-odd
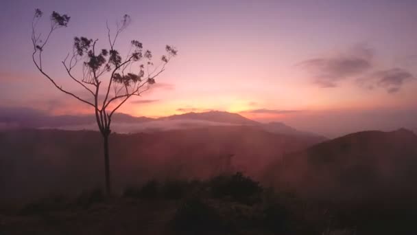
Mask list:
[[[198,198],[184,201],[176,211],[171,223],[174,231],[179,234],[204,234],[226,231],[226,227],[217,210]]]

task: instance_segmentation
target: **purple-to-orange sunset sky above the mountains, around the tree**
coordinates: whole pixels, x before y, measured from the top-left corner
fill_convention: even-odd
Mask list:
[[[417,1],[21,1],[0,9],[0,107],[52,115],[91,110],[55,89],[31,58],[34,9],[71,16],[44,51],[45,71],[68,90],[82,87],[61,61],[74,36],[107,47],[123,14],[132,22],[116,47],[137,39],[155,58],[178,56],[140,98],[119,109],[160,117],[229,111],[328,136],[417,128]]]

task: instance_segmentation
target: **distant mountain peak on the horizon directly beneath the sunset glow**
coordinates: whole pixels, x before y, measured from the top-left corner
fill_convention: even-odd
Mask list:
[[[184,113],[180,115],[171,115],[161,117],[159,120],[204,120],[210,122],[222,122],[228,124],[257,125],[255,122],[237,113],[228,113],[224,111],[208,111],[204,113]]]

